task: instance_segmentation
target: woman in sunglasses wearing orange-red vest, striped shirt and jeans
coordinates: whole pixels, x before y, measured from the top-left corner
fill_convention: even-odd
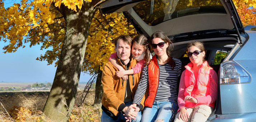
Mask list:
[[[177,83],[181,74],[181,61],[170,57],[168,47],[172,42],[162,31],[153,33],[149,44],[155,55],[143,68],[133,104],[139,105],[148,88],[141,121],[169,122],[178,109]]]

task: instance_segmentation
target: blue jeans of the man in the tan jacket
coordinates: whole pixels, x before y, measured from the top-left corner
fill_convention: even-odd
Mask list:
[[[125,103],[126,106],[130,106],[131,104],[132,104],[132,101]],[[112,117],[108,116],[104,111],[102,111],[101,122],[120,122],[121,120],[126,121],[125,117],[126,116],[120,113],[117,120],[113,120]],[[132,119],[131,122],[140,122],[140,121],[141,121],[141,111],[138,112],[136,116],[136,120]]]

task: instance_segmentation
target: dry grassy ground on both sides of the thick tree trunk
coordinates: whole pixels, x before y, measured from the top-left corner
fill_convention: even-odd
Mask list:
[[[82,101],[82,91],[76,94],[70,122],[99,122],[101,105],[94,105],[94,91]],[[0,122],[53,122],[43,113],[49,92],[0,93]]]

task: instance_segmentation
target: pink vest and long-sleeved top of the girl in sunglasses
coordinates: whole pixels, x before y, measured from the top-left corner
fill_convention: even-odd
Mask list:
[[[191,69],[192,63],[188,63],[181,75],[180,88],[178,93],[178,112],[181,108],[193,108],[199,105],[207,105],[214,108],[217,99],[217,74],[205,61],[198,74]],[[185,101],[186,96],[197,99],[197,103]]]

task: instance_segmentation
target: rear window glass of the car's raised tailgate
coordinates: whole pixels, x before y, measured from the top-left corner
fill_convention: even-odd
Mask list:
[[[202,13],[227,13],[219,0],[145,0],[132,7],[148,25],[181,16]]]

